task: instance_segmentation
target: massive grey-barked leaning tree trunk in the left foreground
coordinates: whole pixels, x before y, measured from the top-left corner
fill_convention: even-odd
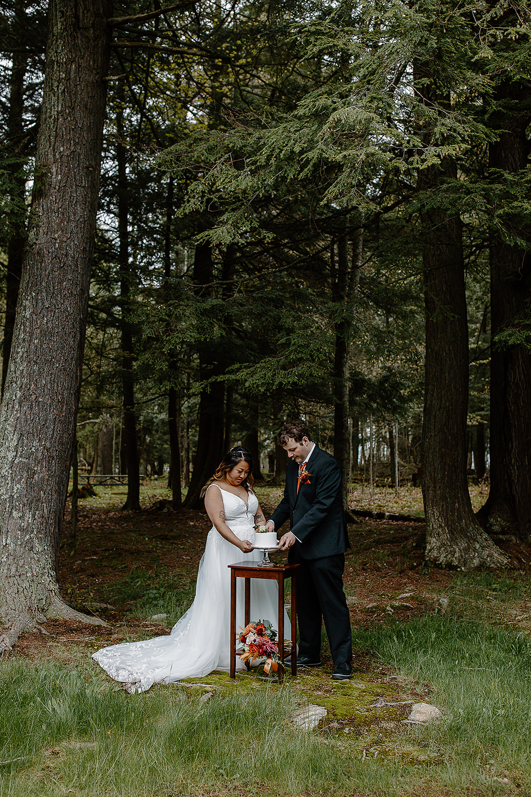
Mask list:
[[[80,395],[110,41],[105,0],[51,0],[35,198],[0,414],[0,615],[102,624],[63,603],[57,559]]]

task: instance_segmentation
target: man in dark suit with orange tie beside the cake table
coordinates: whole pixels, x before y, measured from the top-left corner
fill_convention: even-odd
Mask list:
[[[343,514],[341,470],[338,462],[310,441],[302,422],[287,423],[279,432],[279,446],[287,451],[284,497],[267,520],[267,530],[280,528],[289,518],[290,531],[279,540],[289,548],[287,559],[298,563],[297,619],[299,655],[297,664],[321,664],[321,625],[334,659],[333,678],[345,681],[352,675],[352,637],[349,609],[343,591],[345,551],[349,548]]]

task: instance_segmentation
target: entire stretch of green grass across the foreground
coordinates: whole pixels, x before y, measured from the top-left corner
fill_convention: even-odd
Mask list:
[[[503,795],[506,775],[514,793],[531,793],[528,636],[429,614],[357,631],[353,642],[375,656],[361,685],[334,685],[319,671],[283,687],[213,673],[129,696],[88,660],[8,660],[0,795]],[[363,690],[386,694],[381,662],[405,697],[424,685],[442,719],[413,726],[396,709],[367,713]],[[305,701],[332,712],[314,732],[289,720]]]

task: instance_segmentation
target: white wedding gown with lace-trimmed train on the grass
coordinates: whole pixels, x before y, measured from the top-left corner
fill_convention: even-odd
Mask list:
[[[225,522],[240,540],[255,538],[254,516],[258,499],[248,493],[245,501],[215,483],[220,489]],[[101,648],[92,654],[103,669],[126,685],[131,692],[144,692],[151,685],[169,684],[181,678],[208,675],[213,669],[230,666],[230,571],[228,565],[257,561],[261,551],[244,554],[229,543],[213,526],[206,538],[205,553],[199,563],[195,599],[189,610],[175,623],[170,634],[143,642],[123,642]],[[272,580],[252,579],[251,619],[270,620],[278,630],[279,588]],[[236,579],[236,628],[244,625],[244,579]],[[290,619],[284,610],[284,635],[289,635]],[[236,659],[238,669],[243,662]]]

